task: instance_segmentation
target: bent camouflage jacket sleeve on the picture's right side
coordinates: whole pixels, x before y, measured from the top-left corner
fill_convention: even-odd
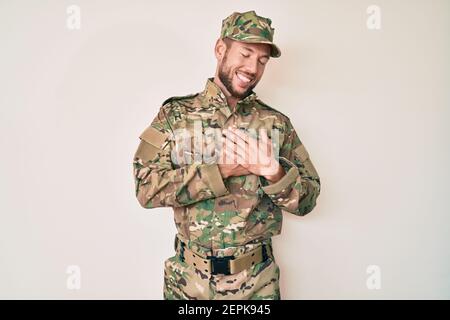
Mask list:
[[[287,121],[285,135],[279,162],[286,174],[273,184],[268,184],[262,178],[262,189],[280,209],[303,216],[316,206],[320,194],[320,178],[290,121]]]

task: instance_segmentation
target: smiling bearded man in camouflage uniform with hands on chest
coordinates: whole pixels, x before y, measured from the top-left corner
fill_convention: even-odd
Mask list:
[[[253,91],[281,55],[273,34],[255,11],[223,20],[214,78],[167,99],[140,135],[136,197],[173,207],[178,230],[165,299],[281,298],[271,238],[282,211],[311,212],[320,179],[289,118]]]

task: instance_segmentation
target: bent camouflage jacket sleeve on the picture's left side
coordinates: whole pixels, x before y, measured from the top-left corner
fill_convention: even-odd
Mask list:
[[[227,194],[217,164],[175,168],[172,129],[164,107],[139,136],[133,159],[136,198],[144,208],[181,207]]]

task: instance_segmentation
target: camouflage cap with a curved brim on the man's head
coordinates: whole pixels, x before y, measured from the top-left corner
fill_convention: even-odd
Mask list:
[[[281,56],[280,49],[272,42],[274,28],[270,25],[272,20],[260,17],[255,11],[234,12],[222,21],[220,38],[249,43],[267,43],[272,47],[270,56]]]

